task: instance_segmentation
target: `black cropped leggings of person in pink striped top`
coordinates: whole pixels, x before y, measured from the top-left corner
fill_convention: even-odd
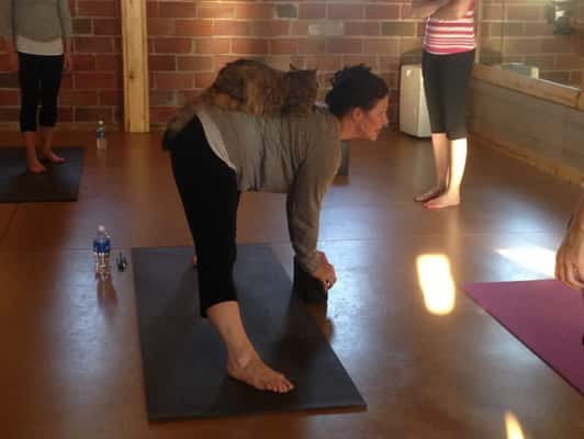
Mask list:
[[[431,132],[450,140],[467,137],[467,95],[474,50],[434,55],[424,50],[422,71]]]

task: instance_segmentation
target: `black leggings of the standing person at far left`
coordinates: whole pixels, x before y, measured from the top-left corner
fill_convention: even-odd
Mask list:
[[[36,111],[41,101],[38,123],[55,126],[57,97],[63,77],[63,55],[31,55],[19,52],[21,90],[20,131],[36,131]]]

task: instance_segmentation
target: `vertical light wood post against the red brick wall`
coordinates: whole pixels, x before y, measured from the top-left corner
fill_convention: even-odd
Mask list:
[[[124,128],[150,130],[146,1],[122,0],[122,53],[124,59]]]

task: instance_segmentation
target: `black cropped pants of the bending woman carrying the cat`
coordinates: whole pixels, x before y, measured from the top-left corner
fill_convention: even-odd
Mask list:
[[[198,117],[172,139],[172,173],[194,241],[201,316],[217,303],[236,301],[233,268],[239,190],[235,172],[209,145]]]

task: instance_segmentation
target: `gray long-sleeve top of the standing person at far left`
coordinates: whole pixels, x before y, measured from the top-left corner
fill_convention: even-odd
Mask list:
[[[71,36],[69,0],[0,0],[0,35],[49,42]]]

